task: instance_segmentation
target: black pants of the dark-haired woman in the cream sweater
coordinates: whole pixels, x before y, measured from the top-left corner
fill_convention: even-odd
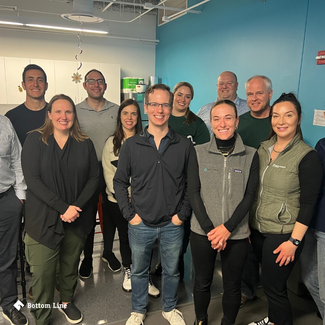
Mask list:
[[[129,246],[129,236],[128,236],[128,222],[124,219],[123,214],[119,208],[119,205],[116,202],[108,201],[108,205],[110,208],[110,220],[115,227],[117,227],[117,231],[119,232],[119,241],[120,241],[120,253],[122,258],[122,265],[124,267],[131,267],[131,248]],[[109,252],[113,248],[113,243],[111,247],[109,246],[110,242],[108,243],[108,248],[105,247],[105,250]]]

